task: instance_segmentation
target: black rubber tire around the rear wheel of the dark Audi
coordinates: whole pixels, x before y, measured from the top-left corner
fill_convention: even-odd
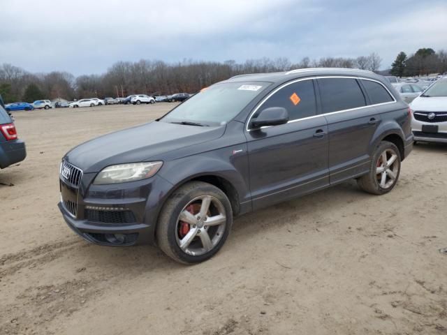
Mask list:
[[[386,152],[386,155],[388,154],[395,154],[397,155],[397,158],[395,158],[395,163],[393,162],[392,165],[390,165],[390,168],[393,168],[395,175],[395,179],[390,178],[388,182],[386,183],[386,187],[381,186],[381,182],[379,182],[378,179],[378,172],[377,170],[379,168],[382,168],[379,166],[379,164],[383,163],[383,159],[381,158],[381,155]],[[375,195],[382,195],[385,193],[390,192],[394,186],[397,183],[397,180],[399,179],[400,175],[400,163],[401,163],[401,156],[400,151],[397,149],[395,144],[388,142],[388,141],[382,141],[380,142],[379,146],[376,147],[376,150],[374,151],[374,154],[372,155],[372,161],[371,161],[371,167],[369,168],[368,174],[365,174],[364,176],[357,179],[358,186],[365,192],[375,194]],[[396,164],[396,166],[395,166]],[[388,168],[385,168],[386,171],[390,170]],[[383,173],[383,172],[382,172]]]

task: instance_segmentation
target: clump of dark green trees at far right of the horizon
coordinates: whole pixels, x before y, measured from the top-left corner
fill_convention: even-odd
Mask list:
[[[413,77],[447,72],[447,52],[435,52],[430,47],[423,47],[409,57],[401,51],[393,64],[390,73],[397,77]]]

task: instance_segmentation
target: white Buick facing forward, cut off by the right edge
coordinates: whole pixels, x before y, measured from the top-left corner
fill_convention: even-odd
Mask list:
[[[447,78],[439,79],[410,103],[414,140],[447,143]]]

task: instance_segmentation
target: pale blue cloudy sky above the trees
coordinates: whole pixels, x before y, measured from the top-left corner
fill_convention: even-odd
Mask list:
[[[116,61],[447,50],[447,0],[1,0],[0,64],[101,74]]]

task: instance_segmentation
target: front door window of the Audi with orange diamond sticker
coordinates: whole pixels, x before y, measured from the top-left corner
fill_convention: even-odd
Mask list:
[[[270,96],[258,111],[268,107],[284,107],[290,120],[316,115],[315,91],[312,80],[302,80],[280,89]]]

